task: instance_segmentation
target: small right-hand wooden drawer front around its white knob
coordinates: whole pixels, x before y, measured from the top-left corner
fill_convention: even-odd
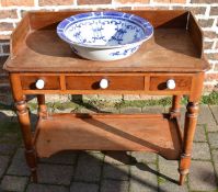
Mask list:
[[[174,82],[175,88],[169,89],[168,81]],[[188,76],[151,76],[150,91],[190,91],[192,87],[192,77]]]

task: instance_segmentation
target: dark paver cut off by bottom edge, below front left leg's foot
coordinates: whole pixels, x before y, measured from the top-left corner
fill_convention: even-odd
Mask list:
[[[59,185],[30,183],[26,192],[68,192],[68,189]]]

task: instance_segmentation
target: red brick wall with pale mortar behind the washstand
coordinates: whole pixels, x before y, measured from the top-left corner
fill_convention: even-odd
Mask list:
[[[21,21],[23,12],[102,8],[192,10],[204,31],[205,55],[211,65],[211,70],[207,72],[205,91],[218,90],[218,0],[0,0],[0,57],[3,57],[0,60],[5,60],[9,55],[8,39]],[[4,77],[1,74],[0,81]]]

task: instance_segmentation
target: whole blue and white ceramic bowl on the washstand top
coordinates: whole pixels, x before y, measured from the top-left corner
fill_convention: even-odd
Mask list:
[[[145,19],[116,11],[87,12],[61,21],[59,37],[91,60],[117,60],[134,54],[153,34]]]

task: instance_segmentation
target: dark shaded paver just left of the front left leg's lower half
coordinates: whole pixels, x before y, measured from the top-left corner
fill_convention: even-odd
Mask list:
[[[7,173],[15,176],[30,176],[31,172],[26,165],[23,148],[16,150]]]

